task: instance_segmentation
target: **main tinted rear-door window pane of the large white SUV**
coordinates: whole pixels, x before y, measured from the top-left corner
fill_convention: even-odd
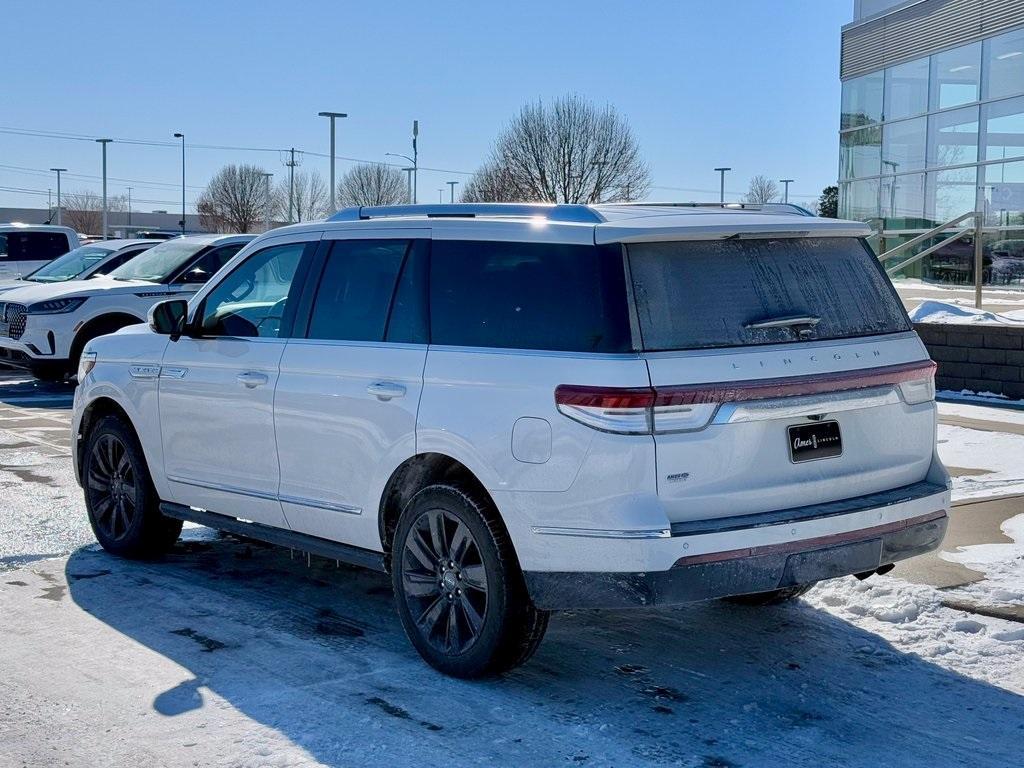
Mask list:
[[[382,341],[407,240],[335,243],[313,299],[310,339]]]

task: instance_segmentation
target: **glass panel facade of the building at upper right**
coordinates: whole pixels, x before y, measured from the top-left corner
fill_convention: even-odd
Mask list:
[[[843,83],[840,216],[897,239],[976,210],[1024,228],[1024,28]]]

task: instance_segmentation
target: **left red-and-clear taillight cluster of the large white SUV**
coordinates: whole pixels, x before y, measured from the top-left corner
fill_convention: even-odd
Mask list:
[[[562,385],[558,410],[588,427],[618,434],[688,432],[708,426],[717,402],[680,403],[671,390]]]

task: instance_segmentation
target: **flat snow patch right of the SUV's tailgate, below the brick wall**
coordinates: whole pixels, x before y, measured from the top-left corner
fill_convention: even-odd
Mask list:
[[[939,424],[939,457],[975,470],[953,477],[953,500],[1024,493],[1024,435]]]

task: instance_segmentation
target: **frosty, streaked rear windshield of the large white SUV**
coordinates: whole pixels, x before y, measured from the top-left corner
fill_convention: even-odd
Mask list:
[[[640,243],[629,247],[644,348],[778,344],[910,328],[899,297],[854,238]],[[748,329],[779,317],[820,322]]]

